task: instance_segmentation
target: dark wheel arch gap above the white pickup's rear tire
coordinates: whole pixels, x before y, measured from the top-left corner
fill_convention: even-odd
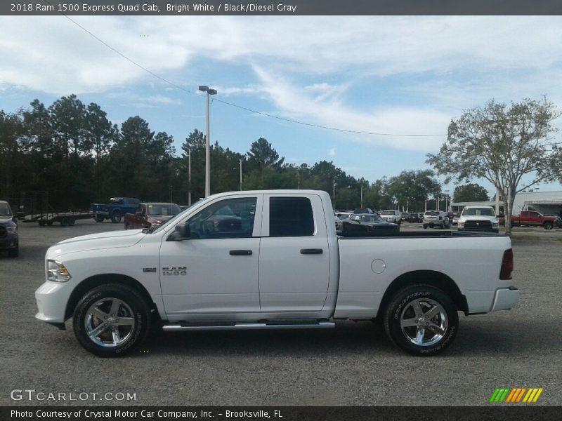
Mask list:
[[[425,283],[426,285],[431,285],[443,290],[450,296],[451,300],[455,302],[457,309],[462,310],[466,315],[469,314],[469,305],[466,302],[466,297],[450,276],[443,274],[443,272],[433,270],[416,270],[401,274],[386,288],[381,299],[381,304],[379,305],[379,310],[377,311],[377,319],[381,319],[384,315],[384,309],[386,309],[393,295],[396,294],[398,290],[414,283]]]

